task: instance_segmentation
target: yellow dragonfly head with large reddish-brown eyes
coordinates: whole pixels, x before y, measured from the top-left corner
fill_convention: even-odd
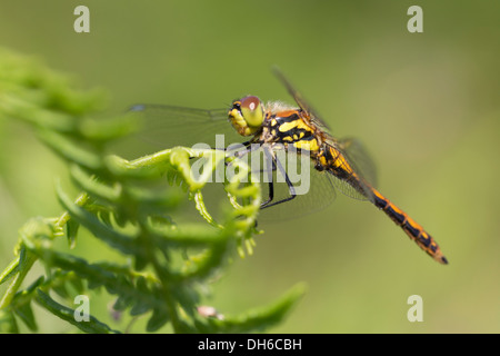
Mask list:
[[[249,96],[232,103],[229,120],[241,136],[251,136],[262,126],[266,117],[263,105],[258,97]]]

